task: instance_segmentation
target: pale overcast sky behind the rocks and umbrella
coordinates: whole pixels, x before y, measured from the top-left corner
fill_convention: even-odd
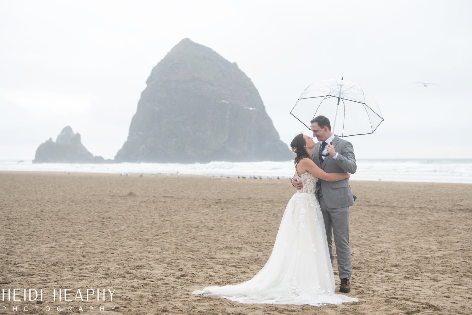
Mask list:
[[[183,38],[252,80],[280,138],[315,81],[344,77],[379,104],[357,158],[472,158],[470,1],[0,2],[0,160],[34,159],[65,126],[114,158],[151,69]],[[440,86],[411,84],[422,81]]]

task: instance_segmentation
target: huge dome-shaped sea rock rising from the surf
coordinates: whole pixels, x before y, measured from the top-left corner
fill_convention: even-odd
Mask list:
[[[210,48],[182,40],[146,84],[115,162],[293,158],[251,80]]]

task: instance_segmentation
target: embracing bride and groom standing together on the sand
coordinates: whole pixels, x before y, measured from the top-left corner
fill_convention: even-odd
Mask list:
[[[349,292],[349,206],[355,197],[348,179],[356,171],[353,146],[331,133],[326,117],[318,116],[311,124],[319,142],[299,134],[290,144],[296,154],[292,185],[297,191],[287,204],[267,263],[251,280],[194,294],[240,303],[320,306],[357,301],[335,293],[331,241],[334,234],[339,291]]]

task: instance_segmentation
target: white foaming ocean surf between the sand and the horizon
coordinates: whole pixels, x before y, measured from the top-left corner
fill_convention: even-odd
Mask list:
[[[207,177],[261,177],[263,179],[291,178],[293,161],[285,162],[210,162],[210,163],[111,163],[67,164],[17,163],[0,161],[3,171],[80,172],[103,174],[171,174],[200,175]],[[358,159],[357,171],[351,181],[387,181],[414,183],[464,183],[472,184],[472,159]]]

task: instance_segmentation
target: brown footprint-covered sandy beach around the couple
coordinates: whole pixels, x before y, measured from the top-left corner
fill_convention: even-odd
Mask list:
[[[275,306],[192,291],[262,268],[295,193],[287,179],[0,172],[0,289],[21,289],[0,314],[471,314],[472,185],[351,187],[348,295],[359,302]],[[23,301],[30,288],[42,303]],[[115,292],[54,301],[59,288]]]

